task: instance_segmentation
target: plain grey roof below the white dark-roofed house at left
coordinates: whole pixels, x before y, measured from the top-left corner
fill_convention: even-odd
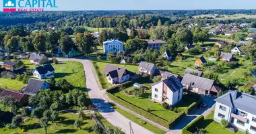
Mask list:
[[[26,88],[24,89],[24,94],[37,94],[44,84],[44,80],[37,80],[30,78]]]

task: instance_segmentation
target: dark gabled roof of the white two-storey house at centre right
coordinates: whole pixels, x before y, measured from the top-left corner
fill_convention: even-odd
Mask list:
[[[175,76],[171,76],[171,77],[164,79],[160,82],[164,82],[164,84],[166,84],[166,86],[168,86],[168,88],[170,88],[170,90],[172,90],[172,92],[176,92],[177,90],[183,88],[183,84],[181,84],[181,82],[179,82],[177,80],[177,78],[175,78]],[[159,84],[160,82],[157,82],[156,84]],[[153,84],[152,86],[154,86],[156,84]]]

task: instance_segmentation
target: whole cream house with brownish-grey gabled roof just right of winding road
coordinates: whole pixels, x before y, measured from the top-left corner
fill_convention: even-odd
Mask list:
[[[111,84],[123,83],[130,79],[127,69],[114,66],[113,64],[106,64],[103,72],[106,73],[106,79]]]

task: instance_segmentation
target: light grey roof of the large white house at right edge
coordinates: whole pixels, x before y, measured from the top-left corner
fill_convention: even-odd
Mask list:
[[[216,98],[215,101],[228,107],[235,107],[256,115],[256,105],[248,105],[256,103],[256,96],[245,94],[238,90],[228,90],[226,94]]]

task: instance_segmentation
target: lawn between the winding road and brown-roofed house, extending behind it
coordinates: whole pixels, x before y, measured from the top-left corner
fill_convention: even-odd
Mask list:
[[[108,63],[110,64],[108,60],[92,60],[92,64],[94,64],[94,68],[98,74],[98,78],[100,80],[100,84],[102,85],[102,88],[110,88],[112,86],[112,84],[107,82],[105,78],[106,74],[104,74],[103,72],[106,64]],[[135,66],[135,65],[124,65],[124,64],[113,64],[113,65],[127,68],[127,70],[131,72],[138,72],[138,69],[137,69],[138,66]]]

